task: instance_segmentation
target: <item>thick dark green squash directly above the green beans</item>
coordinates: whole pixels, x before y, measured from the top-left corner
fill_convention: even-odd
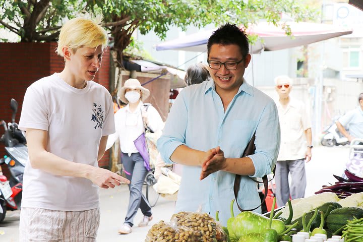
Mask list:
[[[355,218],[363,218],[363,209],[357,207],[337,208],[331,211],[327,218],[327,227],[335,231]]]

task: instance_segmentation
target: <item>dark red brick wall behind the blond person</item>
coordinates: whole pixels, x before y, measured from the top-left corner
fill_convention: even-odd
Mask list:
[[[0,120],[11,122],[10,99],[19,103],[16,122],[19,122],[25,91],[36,80],[61,72],[64,60],[55,53],[56,43],[0,43]],[[109,51],[103,55],[102,68],[95,82],[109,88]],[[4,133],[0,128],[0,135]],[[0,157],[5,155],[4,145],[0,144]],[[99,161],[100,166],[108,167],[109,153]],[[3,166],[4,168],[4,166]]]

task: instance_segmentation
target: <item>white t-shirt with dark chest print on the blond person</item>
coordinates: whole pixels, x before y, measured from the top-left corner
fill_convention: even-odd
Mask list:
[[[27,128],[48,131],[46,149],[50,153],[97,167],[101,137],[115,131],[111,95],[93,81],[77,89],[56,73],[42,78],[25,93],[19,129]],[[98,187],[86,178],[34,169],[28,160],[22,207],[61,211],[98,208]]]

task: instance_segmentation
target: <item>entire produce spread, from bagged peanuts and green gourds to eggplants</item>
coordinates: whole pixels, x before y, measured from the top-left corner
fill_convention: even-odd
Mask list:
[[[234,200],[230,203],[227,226],[204,213],[180,212],[170,222],[160,221],[149,230],[145,242],[278,242],[292,241],[295,233],[315,238],[337,235],[345,242],[363,242],[363,178],[345,171],[347,179],[338,181],[315,195],[288,201],[275,213],[261,215],[244,211],[234,216]],[[323,236],[325,236],[323,235]]]

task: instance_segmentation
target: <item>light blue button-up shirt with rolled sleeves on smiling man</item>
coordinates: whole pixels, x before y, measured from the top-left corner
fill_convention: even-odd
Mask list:
[[[275,102],[245,80],[224,111],[213,81],[186,87],[175,99],[163,134],[157,142],[164,161],[171,163],[171,154],[180,145],[207,151],[220,146],[227,158],[238,158],[256,131],[255,154],[249,156],[256,169],[254,177],[271,173],[276,164],[280,144],[280,126]],[[234,199],[235,175],[217,171],[199,180],[200,166],[183,166],[175,212],[196,212],[201,208],[226,225],[229,205]],[[242,176],[238,203],[243,209],[257,207],[260,197],[256,183]],[[261,209],[258,209],[260,212]],[[239,210],[234,204],[234,215]]]

